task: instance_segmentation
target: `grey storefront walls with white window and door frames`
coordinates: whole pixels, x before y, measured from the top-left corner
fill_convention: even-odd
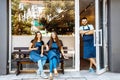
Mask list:
[[[119,0],[95,0],[95,46],[97,74],[107,69],[112,72],[119,71]],[[118,7],[118,8],[116,8]],[[11,72],[11,0],[0,1],[0,75]],[[75,60],[73,71],[80,71],[80,1],[75,0]],[[4,26],[4,27],[3,27]],[[69,70],[69,69],[68,69]]]

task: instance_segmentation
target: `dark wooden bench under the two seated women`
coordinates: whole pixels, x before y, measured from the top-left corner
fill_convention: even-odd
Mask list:
[[[67,53],[67,47],[63,47],[64,53]],[[23,64],[35,64],[33,61],[29,59],[29,50],[28,47],[14,47],[14,55],[13,61],[16,62],[17,70],[16,75],[18,75],[23,70]],[[47,61],[48,63],[48,61]],[[60,58],[60,71],[64,74],[64,58],[61,56]]]

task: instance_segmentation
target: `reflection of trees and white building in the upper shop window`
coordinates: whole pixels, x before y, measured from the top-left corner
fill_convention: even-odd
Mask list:
[[[12,34],[74,33],[74,1],[12,0]]]

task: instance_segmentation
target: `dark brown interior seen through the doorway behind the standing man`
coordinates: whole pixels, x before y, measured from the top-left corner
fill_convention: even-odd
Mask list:
[[[92,24],[95,29],[95,0],[80,0],[80,22],[83,17],[87,17],[88,24]],[[89,61],[83,58],[83,41],[80,36],[80,70],[88,69]]]

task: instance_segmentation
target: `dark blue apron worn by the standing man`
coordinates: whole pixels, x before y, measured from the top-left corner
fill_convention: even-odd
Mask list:
[[[84,29],[83,27],[83,30],[86,31],[86,30],[90,30],[90,27],[87,26],[88,29]],[[84,58],[87,59],[87,58],[95,58],[96,57],[96,49],[94,47],[94,37],[93,37],[93,34],[91,35],[83,35],[83,41],[84,41]]]

